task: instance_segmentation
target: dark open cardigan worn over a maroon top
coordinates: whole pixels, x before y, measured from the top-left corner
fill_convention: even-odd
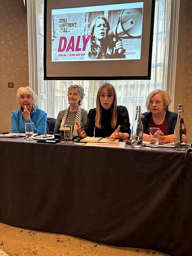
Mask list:
[[[141,122],[143,124],[143,133],[147,133],[147,129],[149,127],[149,122],[152,113],[151,112],[145,112],[142,114],[144,118],[141,119]],[[177,117],[178,114],[175,112],[171,112],[169,110],[166,110],[166,117],[167,117],[167,130],[168,134],[174,134],[176,122],[177,122]]]

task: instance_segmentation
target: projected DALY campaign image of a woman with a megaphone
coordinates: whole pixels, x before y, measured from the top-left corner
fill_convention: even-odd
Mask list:
[[[141,58],[143,2],[52,10],[52,62]]]

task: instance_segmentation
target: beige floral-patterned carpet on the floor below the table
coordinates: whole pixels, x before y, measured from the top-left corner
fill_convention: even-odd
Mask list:
[[[168,256],[155,250],[108,246],[56,233],[0,223],[0,255],[8,256]]]

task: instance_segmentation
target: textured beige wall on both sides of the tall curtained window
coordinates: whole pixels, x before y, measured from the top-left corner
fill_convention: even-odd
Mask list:
[[[10,114],[18,108],[16,91],[28,85],[26,10],[22,0],[1,0],[0,47],[0,129],[10,131]],[[182,0],[179,20],[179,45],[175,107],[184,106],[188,141],[192,142],[192,1]],[[7,82],[14,82],[8,88]]]

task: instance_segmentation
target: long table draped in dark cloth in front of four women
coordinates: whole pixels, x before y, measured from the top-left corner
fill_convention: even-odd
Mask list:
[[[0,139],[0,222],[192,255],[186,151]],[[192,170],[192,153],[187,157]]]

